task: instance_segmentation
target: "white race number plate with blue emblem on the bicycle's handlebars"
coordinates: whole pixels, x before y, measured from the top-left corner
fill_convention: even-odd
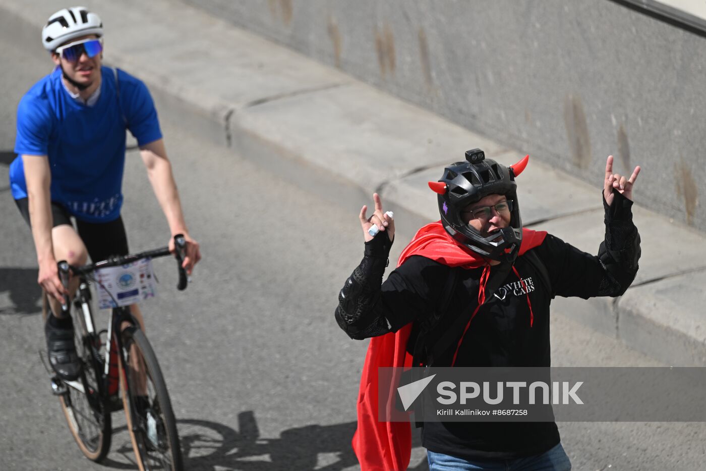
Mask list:
[[[100,309],[129,306],[156,294],[152,260],[143,258],[120,267],[95,271]]]

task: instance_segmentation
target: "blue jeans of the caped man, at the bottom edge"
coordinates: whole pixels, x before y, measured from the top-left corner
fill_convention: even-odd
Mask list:
[[[476,459],[472,461],[427,450],[429,471],[569,471],[571,462],[561,443],[541,455],[514,460]]]

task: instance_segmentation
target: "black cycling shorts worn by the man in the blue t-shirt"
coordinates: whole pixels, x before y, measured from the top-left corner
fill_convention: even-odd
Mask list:
[[[22,217],[30,224],[30,204],[27,198],[16,199]],[[57,202],[52,202],[52,219],[54,226],[71,223],[71,215],[66,208]],[[74,218],[76,219],[76,218]],[[30,225],[30,228],[32,226]],[[118,219],[106,223],[87,223],[76,219],[76,230],[78,236],[88,250],[88,256],[92,262],[106,260],[113,255],[128,255],[128,238],[125,233],[122,216]]]

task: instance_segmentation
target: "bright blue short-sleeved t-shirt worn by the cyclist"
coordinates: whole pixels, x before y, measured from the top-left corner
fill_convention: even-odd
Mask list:
[[[56,69],[30,88],[17,110],[10,185],[15,199],[27,197],[22,154],[48,156],[52,202],[77,219],[107,222],[122,206],[125,131],[140,146],[162,138],[157,111],[145,84],[124,71],[102,67],[100,97],[93,106],[78,102]]]

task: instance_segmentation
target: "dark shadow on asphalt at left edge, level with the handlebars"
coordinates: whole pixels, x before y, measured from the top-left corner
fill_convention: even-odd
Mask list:
[[[0,314],[42,312],[42,289],[37,284],[36,268],[0,268],[0,294],[6,291],[9,291],[11,305],[0,304]]]

